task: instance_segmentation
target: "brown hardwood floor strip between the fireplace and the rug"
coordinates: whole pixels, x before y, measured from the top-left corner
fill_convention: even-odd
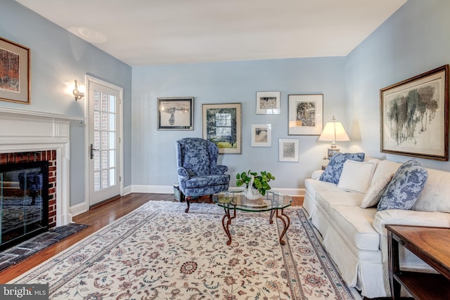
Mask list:
[[[84,214],[79,214],[78,216],[75,216],[73,218],[73,221],[75,223],[89,225],[88,228],[70,235],[64,240],[53,244],[43,251],[30,256],[23,261],[20,261],[20,263],[17,263],[16,265],[1,271],[0,283],[6,283],[10,280],[13,280],[14,278],[18,277],[18,275],[23,274],[27,270],[30,270],[31,268],[39,265],[39,263],[50,259],[52,256],[72,246],[72,244],[75,244],[76,242],[84,239],[84,237],[91,235],[91,233],[96,232],[109,223],[112,223],[113,221],[120,219],[122,216],[125,216],[129,212],[134,211],[134,209],[137,209],[149,200],[173,201],[174,195],[134,193],[126,195],[124,197],[119,197],[115,200],[105,202],[103,204],[96,205],[89,211],[86,211]]]

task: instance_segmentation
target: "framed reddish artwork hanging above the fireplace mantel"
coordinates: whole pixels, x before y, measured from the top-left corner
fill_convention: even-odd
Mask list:
[[[30,104],[30,48],[0,38],[0,100]]]

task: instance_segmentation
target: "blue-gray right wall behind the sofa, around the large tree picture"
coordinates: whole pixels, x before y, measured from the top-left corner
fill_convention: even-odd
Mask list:
[[[404,162],[380,152],[380,89],[450,63],[450,1],[409,0],[346,58],[350,149]],[[426,167],[449,162],[419,159]]]

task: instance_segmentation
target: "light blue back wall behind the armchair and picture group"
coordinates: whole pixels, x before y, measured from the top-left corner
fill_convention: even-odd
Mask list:
[[[220,155],[236,173],[270,171],[272,188],[301,188],[304,178],[321,166],[329,143],[319,136],[288,136],[288,94],[323,93],[325,120],[346,119],[345,58],[299,58],[232,63],[205,63],[133,68],[132,182],[176,183],[175,141],[202,137],[202,104],[242,103],[242,154]],[[257,91],[281,91],[281,115],[256,115]],[[193,131],[158,131],[158,97],[195,97]],[[251,125],[271,124],[272,146],[251,146]],[[300,140],[299,162],[278,162],[278,139]]]

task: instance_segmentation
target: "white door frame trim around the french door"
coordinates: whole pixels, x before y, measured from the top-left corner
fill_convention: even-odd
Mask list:
[[[120,196],[123,195],[123,190],[124,190],[124,147],[123,147],[123,91],[124,89],[120,86],[115,86],[114,84],[110,84],[107,81],[103,81],[101,79],[98,79],[96,77],[92,77],[89,75],[86,75],[85,77],[85,82],[86,82],[86,96],[85,101],[84,101],[84,119],[86,119],[86,124],[84,126],[84,150],[85,150],[85,155],[84,155],[84,169],[85,171],[85,176],[84,176],[84,199],[86,199],[85,203],[86,203],[86,210],[89,210],[89,207],[91,206],[91,197],[90,197],[90,184],[91,184],[91,175],[89,173],[89,154],[90,154],[90,149],[89,149],[89,124],[91,124],[90,122],[93,122],[91,119],[89,119],[89,87],[91,83],[95,83],[95,84],[101,84],[103,86],[107,86],[110,89],[113,89],[115,91],[119,92],[119,112],[117,113],[119,119],[119,126],[117,127],[118,129],[118,134],[119,134],[119,145],[118,148],[120,149],[120,155],[119,155],[119,164],[120,164],[120,174],[119,174],[119,185],[120,185]]]

